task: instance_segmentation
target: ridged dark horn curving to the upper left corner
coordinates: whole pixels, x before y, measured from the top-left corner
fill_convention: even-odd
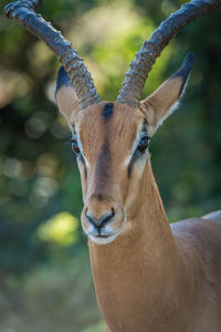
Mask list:
[[[40,14],[34,12],[34,8],[40,2],[41,0],[12,2],[4,8],[4,13],[9,19],[20,23],[40,40],[43,40],[59,58],[74,84],[80,110],[99,103],[101,98],[96,92],[94,81],[77,52],[60,31],[56,31],[50,22],[46,22]]]

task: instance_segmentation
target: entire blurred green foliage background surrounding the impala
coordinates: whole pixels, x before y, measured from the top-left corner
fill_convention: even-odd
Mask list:
[[[104,100],[177,0],[56,0],[38,9],[90,68]],[[3,17],[0,3],[0,332],[104,331],[80,226],[81,183],[70,131],[54,104],[60,66]],[[169,220],[221,208],[221,11],[191,23],[162,52],[144,91],[196,64],[179,110],[151,141]]]

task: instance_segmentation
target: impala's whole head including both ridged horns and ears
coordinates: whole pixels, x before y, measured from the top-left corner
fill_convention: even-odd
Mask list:
[[[125,230],[131,207],[139,207],[149,139],[179,100],[193,54],[188,54],[180,70],[154,94],[140,101],[148,73],[179,30],[221,3],[192,0],[162,22],[136,53],[115,103],[101,101],[90,72],[71,43],[35,14],[33,9],[39,3],[40,0],[12,2],[6,7],[6,14],[43,40],[64,66],[57,75],[55,95],[71,127],[81,172],[82,226],[93,241],[108,243]]]

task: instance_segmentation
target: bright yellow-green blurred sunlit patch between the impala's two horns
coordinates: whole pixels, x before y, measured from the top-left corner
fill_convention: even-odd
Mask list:
[[[152,21],[144,20],[130,1],[110,2],[83,15],[69,38],[84,55],[99,93],[110,98],[107,93],[113,94],[120,87],[135,52],[152,31]]]

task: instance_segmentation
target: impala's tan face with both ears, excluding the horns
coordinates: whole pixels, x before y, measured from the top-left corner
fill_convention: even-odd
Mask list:
[[[138,107],[101,102],[83,111],[61,68],[55,95],[72,131],[83,189],[82,227],[92,241],[106,245],[126,231],[139,198],[149,139],[178,101],[192,63],[192,55],[187,56]]]

